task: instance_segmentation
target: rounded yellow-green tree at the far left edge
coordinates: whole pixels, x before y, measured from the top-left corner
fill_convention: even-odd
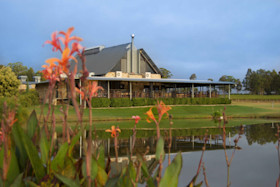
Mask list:
[[[0,96],[11,97],[18,93],[20,81],[10,67],[0,69]]]

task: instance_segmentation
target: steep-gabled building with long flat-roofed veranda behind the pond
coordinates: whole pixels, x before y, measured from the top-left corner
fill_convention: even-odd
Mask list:
[[[217,87],[234,85],[232,82],[162,78],[160,69],[147,52],[134,46],[134,36],[130,43],[88,48],[85,50],[85,59],[88,80],[98,81],[98,85],[104,88],[99,91],[98,97],[211,98],[217,96]],[[80,59],[77,68],[78,72],[82,69]],[[76,82],[79,83],[78,76]],[[47,82],[36,84],[41,99],[47,91],[46,85]],[[67,99],[67,95],[66,85],[58,84],[56,100]]]

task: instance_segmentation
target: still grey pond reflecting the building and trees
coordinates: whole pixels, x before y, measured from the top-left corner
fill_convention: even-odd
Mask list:
[[[238,142],[240,149],[236,150],[227,174],[225,152],[223,149],[222,129],[219,127],[208,129],[208,138],[206,150],[203,156],[203,162],[206,169],[206,177],[210,186],[226,186],[227,177],[231,186],[274,186],[279,176],[278,145],[276,125],[278,123],[266,123],[258,125],[244,125],[244,134]],[[203,129],[192,129],[185,131],[186,135],[172,131],[171,160],[176,153],[181,151],[183,157],[183,167],[179,178],[179,186],[186,186],[196,174],[199,160],[204,145],[204,136],[206,132]],[[227,154],[229,159],[234,151],[234,139],[238,136],[239,127],[227,128]],[[147,165],[151,174],[156,170],[155,147],[156,137],[154,132],[147,133],[150,136],[138,137],[136,140],[135,152],[145,152],[149,147],[149,153],[146,156]],[[168,134],[167,134],[168,135]],[[131,138],[120,138],[119,149],[119,167],[124,167],[128,161],[128,152],[131,145]],[[167,140],[166,140],[167,141]],[[100,140],[105,148],[106,154],[110,154],[112,161],[114,159],[114,143],[112,139]],[[165,147],[168,152],[167,143]],[[163,163],[164,168],[168,164],[168,155]],[[113,168],[114,170],[114,168]],[[204,181],[202,169],[197,182]],[[203,184],[204,186],[204,184]]]

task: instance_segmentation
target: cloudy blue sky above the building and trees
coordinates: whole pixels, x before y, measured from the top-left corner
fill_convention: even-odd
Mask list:
[[[74,26],[82,45],[130,42],[173,78],[280,71],[279,0],[0,0],[0,63],[40,70],[55,54],[42,44]]]

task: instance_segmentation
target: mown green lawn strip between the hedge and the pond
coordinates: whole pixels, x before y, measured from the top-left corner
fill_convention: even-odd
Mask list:
[[[59,111],[61,106],[56,106],[55,114],[56,121],[59,126],[61,124],[62,113]],[[237,126],[240,124],[255,124],[265,123],[272,121],[279,121],[280,118],[280,103],[270,102],[233,102],[231,105],[185,105],[185,106],[172,106],[170,114],[173,115],[174,125],[172,128],[199,128],[199,127],[215,127],[213,121],[211,121],[211,114],[214,111],[223,111],[226,107],[226,114],[230,119],[228,126]],[[129,107],[129,108],[102,108],[93,109],[93,120],[97,129],[107,129],[112,125],[119,126],[122,129],[133,128],[134,121],[131,119],[133,115],[139,115],[141,121],[137,125],[141,129],[154,129],[154,124],[149,124],[145,121],[145,112],[150,107]],[[31,112],[36,110],[37,114],[40,114],[40,106],[34,106],[29,108]],[[47,112],[47,107],[44,109]],[[154,109],[156,113],[156,109]],[[84,110],[84,121],[88,123],[89,110]],[[265,118],[278,118],[277,120],[267,120]],[[187,119],[187,120],[186,120]],[[198,120],[199,119],[199,120]],[[203,120],[202,120],[203,119]],[[75,111],[72,107],[69,110],[68,121],[72,126],[75,126],[77,118]],[[169,128],[169,121],[163,120],[161,128]]]

